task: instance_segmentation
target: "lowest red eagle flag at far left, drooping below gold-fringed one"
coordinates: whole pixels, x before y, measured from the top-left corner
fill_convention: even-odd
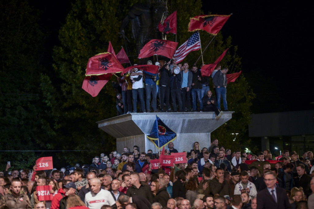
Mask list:
[[[82,89],[95,97],[99,94],[102,87],[104,87],[110,80],[111,76],[112,74],[86,76],[83,81]]]

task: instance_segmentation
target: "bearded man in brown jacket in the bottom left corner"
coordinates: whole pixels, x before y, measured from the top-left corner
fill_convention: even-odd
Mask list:
[[[21,182],[19,179],[13,179],[10,186],[10,192],[4,195],[0,200],[0,208],[4,209],[31,209],[30,200],[26,194],[20,194]]]

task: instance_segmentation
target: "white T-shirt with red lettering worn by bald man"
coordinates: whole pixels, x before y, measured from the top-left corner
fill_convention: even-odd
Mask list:
[[[113,206],[114,204],[116,204],[116,201],[113,199],[110,191],[104,189],[100,189],[97,194],[90,191],[85,195],[85,205],[89,209],[99,209],[103,205]]]

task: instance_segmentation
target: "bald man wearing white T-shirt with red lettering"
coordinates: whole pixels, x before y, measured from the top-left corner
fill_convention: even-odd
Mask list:
[[[85,205],[89,209],[99,209],[103,205],[116,207],[116,201],[111,193],[101,189],[100,180],[97,178],[90,180],[90,192],[85,195]]]

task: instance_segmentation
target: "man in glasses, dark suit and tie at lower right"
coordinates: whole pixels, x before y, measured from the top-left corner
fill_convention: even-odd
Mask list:
[[[267,188],[257,193],[257,209],[291,209],[286,191],[276,187],[276,175],[272,171],[264,174]]]

